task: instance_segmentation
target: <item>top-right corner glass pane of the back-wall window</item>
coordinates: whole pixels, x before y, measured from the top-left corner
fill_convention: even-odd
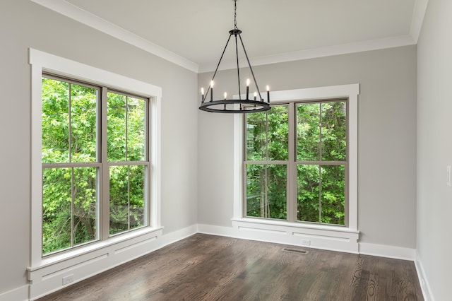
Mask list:
[[[321,104],[322,160],[347,160],[347,102]]]

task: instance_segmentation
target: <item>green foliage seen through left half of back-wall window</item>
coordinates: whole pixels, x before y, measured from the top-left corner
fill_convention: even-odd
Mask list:
[[[288,160],[287,106],[246,115],[246,160]],[[246,215],[287,219],[287,166],[246,164]]]

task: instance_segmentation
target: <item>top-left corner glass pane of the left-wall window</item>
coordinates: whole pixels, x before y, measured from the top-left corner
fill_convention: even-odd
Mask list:
[[[69,162],[69,83],[42,78],[42,163]]]

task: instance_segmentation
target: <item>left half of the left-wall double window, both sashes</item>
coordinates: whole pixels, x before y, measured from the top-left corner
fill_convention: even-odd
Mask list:
[[[99,237],[99,90],[42,78],[42,254]]]

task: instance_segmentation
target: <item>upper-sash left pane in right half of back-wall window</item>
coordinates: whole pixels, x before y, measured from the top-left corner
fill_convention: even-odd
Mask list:
[[[297,105],[297,160],[320,160],[320,104]]]

